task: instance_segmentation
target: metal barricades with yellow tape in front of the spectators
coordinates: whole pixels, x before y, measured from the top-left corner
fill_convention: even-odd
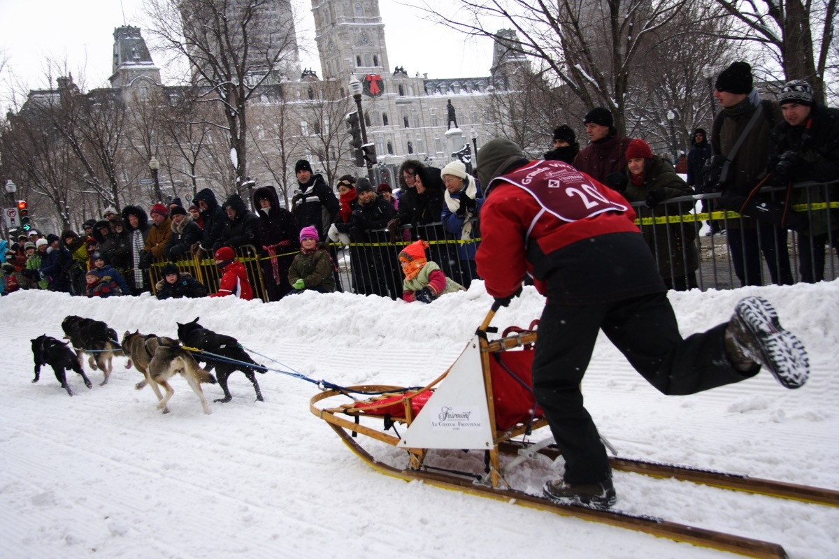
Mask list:
[[[823,237],[805,236],[800,233],[785,235],[767,236],[761,233],[758,228],[757,242],[763,255],[774,253],[775,261],[766,261],[765,256],[761,258],[761,267],[758,270],[759,277],[748,277],[748,270],[744,281],[751,285],[767,283],[770,277],[775,282],[783,282],[781,278],[774,278],[781,269],[789,269],[791,273],[790,282],[819,281],[822,278],[833,280],[839,277],[839,201],[823,202],[817,200],[839,200],[839,195],[832,194],[831,190],[839,190],[839,183],[805,183],[796,184],[795,189],[806,189],[805,204],[794,204],[791,210],[801,215],[806,215],[810,222],[822,220],[826,224],[826,235]],[[780,190],[778,187],[762,189],[761,193]],[[681,196],[679,198],[664,200],[652,211],[651,216],[641,217],[636,224],[649,240],[650,249],[653,251],[655,260],[659,264],[659,272],[669,283],[670,288],[680,288],[680,278],[685,278],[684,287],[698,287],[705,291],[707,289],[732,289],[741,287],[742,281],[737,277],[735,260],[732,258],[732,246],[739,247],[745,251],[746,245],[743,242],[727,239],[727,236],[745,236],[744,229],[739,227],[743,218],[737,212],[731,210],[716,209],[717,199],[720,194],[694,194]],[[702,212],[701,201],[711,203],[711,211]],[[685,204],[690,210],[684,210]],[[643,202],[632,204],[640,214]],[[751,218],[749,218],[751,219]],[[725,235],[702,235],[702,222],[711,220],[719,222]],[[749,222],[751,223],[751,221]],[[379,295],[398,299],[402,297],[402,282],[404,276],[402,267],[399,265],[399,251],[405,246],[418,239],[427,241],[429,248],[426,256],[429,261],[434,261],[440,269],[454,281],[464,287],[468,287],[477,277],[474,266],[474,252],[480,245],[481,239],[477,237],[463,241],[446,233],[440,222],[427,225],[404,225],[398,235],[397,241],[391,241],[390,232],[387,229],[367,231],[369,237],[365,242],[351,242],[348,246],[341,243],[331,243],[330,253],[336,265],[336,290],[354,292],[362,295]],[[783,232],[783,231],[782,231]],[[735,241],[735,242],[732,242]],[[824,248],[822,243],[826,243]],[[783,244],[783,246],[781,246]],[[833,248],[831,248],[833,247]],[[773,248],[774,251],[767,249]],[[696,251],[696,269],[692,270],[693,262],[689,257],[674,257],[674,255],[686,255],[688,251]],[[823,253],[823,254],[822,254]],[[278,254],[274,257],[290,256],[294,253]],[[789,267],[784,259],[789,254]],[[801,255],[810,255],[809,267],[802,271]],[[253,286],[255,298],[268,301],[263,277],[263,267],[260,262],[269,261],[270,256],[260,256],[254,246],[242,246],[236,250],[236,256],[244,264],[248,271],[248,280]],[[745,256],[745,255],[744,255]],[[160,268],[166,262],[155,262],[149,270],[152,292],[156,293],[156,284],[161,279]],[[180,272],[190,272],[199,282],[203,283],[208,292],[216,292],[221,279],[221,272],[216,267],[216,262],[206,254],[195,255],[190,259],[175,262]],[[691,272],[695,275],[696,285]]]

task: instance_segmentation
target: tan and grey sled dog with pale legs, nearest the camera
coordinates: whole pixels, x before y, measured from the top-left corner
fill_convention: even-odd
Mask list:
[[[126,344],[127,340],[128,344]],[[143,340],[143,349],[139,347],[140,340]],[[169,413],[169,408],[166,405],[175,394],[172,386],[169,385],[169,379],[180,374],[201,400],[204,413],[210,413],[210,406],[204,396],[204,391],[201,390],[201,383],[216,384],[216,377],[201,369],[190,352],[180,347],[178,340],[164,336],[143,336],[137,332],[134,334],[126,332],[126,336],[122,339],[123,350],[128,351],[127,346],[128,349],[133,351],[131,355],[134,365],[137,365],[138,370],[143,370],[143,375],[146,377],[145,383],[138,383],[136,388],[141,389],[145,384],[151,385],[154,394],[158,396],[158,409],[160,411]],[[135,354],[139,358],[138,360],[134,360],[133,355]],[[145,359],[149,360],[143,363]],[[145,366],[143,367],[143,365]],[[166,391],[165,396],[160,396],[158,386],[162,386]]]

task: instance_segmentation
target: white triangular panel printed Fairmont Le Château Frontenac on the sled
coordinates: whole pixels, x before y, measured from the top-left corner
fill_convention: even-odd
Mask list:
[[[477,335],[399,441],[401,448],[492,448]]]

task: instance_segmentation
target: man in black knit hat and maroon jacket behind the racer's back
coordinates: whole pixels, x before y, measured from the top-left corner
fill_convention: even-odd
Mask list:
[[[612,113],[602,106],[588,111],[583,119],[589,144],[576,154],[572,164],[600,183],[606,183],[610,173],[625,174],[627,170],[627,148],[629,138],[618,135]]]

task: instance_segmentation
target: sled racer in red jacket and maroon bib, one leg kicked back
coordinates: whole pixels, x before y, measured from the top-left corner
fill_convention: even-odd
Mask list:
[[[580,392],[601,329],[664,394],[746,380],[761,366],[788,388],[804,384],[805,350],[762,298],[745,298],[729,322],[681,338],[635,212],[618,192],[566,163],[529,162],[504,138],[484,144],[477,168],[486,193],[477,272],[493,308],[519,295],[525,274],[547,297],[534,396],[565,458],[563,478],[545,484],[549,499],[597,508],[617,500],[606,448]]]

